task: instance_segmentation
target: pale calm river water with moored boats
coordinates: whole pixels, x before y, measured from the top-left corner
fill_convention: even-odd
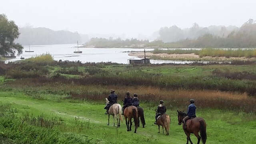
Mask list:
[[[184,48],[193,49],[193,48]],[[15,62],[20,60],[20,57],[31,58],[40,54],[52,54],[54,60],[69,60],[85,62],[116,62],[119,64],[128,64],[128,59],[135,58],[129,56],[130,51],[143,51],[144,49],[138,48],[79,48],[82,54],[75,54],[77,44],[55,44],[44,46],[30,46],[30,50],[34,52],[25,52],[29,50],[28,46],[24,46],[23,53],[14,59],[6,60],[8,62]],[[146,51],[152,51],[154,48],[147,48]],[[199,50],[199,49],[197,49]],[[152,64],[162,63],[175,63],[175,64],[189,64],[193,61],[180,61],[180,60],[150,60]],[[207,63],[207,61],[202,62]]]

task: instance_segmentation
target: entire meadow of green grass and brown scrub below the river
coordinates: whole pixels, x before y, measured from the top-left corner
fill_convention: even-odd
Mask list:
[[[196,99],[197,116],[206,120],[208,144],[253,144],[256,138],[254,64],[128,66],[42,57],[49,61],[40,62],[39,56],[0,65],[0,143],[185,143],[176,110],[186,110],[190,98]],[[126,91],[138,93],[146,128],[134,134],[124,122],[120,128],[106,126],[103,100],[110,89],[120,103]],[[169,136],[158,134],[153,124],[161,99],[171,116]]]

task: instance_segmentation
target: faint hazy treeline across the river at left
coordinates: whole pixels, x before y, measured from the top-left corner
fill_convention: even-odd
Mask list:
[[[65,30],[54,31],[48,28],[19,28],[20,36],[16,42],[22,45],[72,44],[88,41],[87,35]]]

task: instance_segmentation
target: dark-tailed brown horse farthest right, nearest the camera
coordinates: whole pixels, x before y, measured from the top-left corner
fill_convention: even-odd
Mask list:
[[[183,118],[187,116],[185,112],[178,111],[178,124],[181,125],[183,122]],[[186,121],[186,129],[184,129],[184,124],[183,124],[183,130],[185,134],[187,135],[187,144],[188,141],[190,141],[190,144],[193,144],[191,139],[190,139],[190,134],[194,134],[197,137],[197,144],[200,143],[200,139],[202,138],[203,144],[206,143],[206,122],[202,118],[192,118]],[[200,131],[200,136],[198,132]]]

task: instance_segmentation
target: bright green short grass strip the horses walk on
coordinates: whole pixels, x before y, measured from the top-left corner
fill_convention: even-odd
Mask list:
[[[66,128],[74,125],[74,117],[80,120],[89,121],[90,127],[81,131],[72,131],[72,128],[58,128],[60,132],[72,132],[74,134],[85,134],[97,144],[114,143],[130,144],[130,142],[141,144],[180,144],[186,142],[186,136],[182,126],[178,126],[176,108],[168,109],[171,116],[170,136],[158,134],[158,128],[153,124],[154,109],[156,106],[149,103],[142,103],[145,110],[146,128],[138,128],[138,133],[126,132],[124,122],[120,128],[106,126],[107,116],[104,115],[103,102],[81,101],[60,99],[52,100],[52,97],[45,96],[38,100],[25,96],[20,92],[0,92],[0,101],[11,103],[17,108],[17,115],[22,112],[29,112],[35,116],[44,114],[47,117],[61,117],[67,123]],[[185,109],[185,108],[184,108]],[[207,123],[207,143],[210,144],[253,144],[255,138],[256,121],[253,114],[244,114],[232,111],[200,109],[197,115],[203,117]],[[110,119],[112,122],[112,118]],[[133,125],[134,126],[134,125]],[[134,127],[132,127],[134,129]],[[195,136],[191,136],[196,143]]]

